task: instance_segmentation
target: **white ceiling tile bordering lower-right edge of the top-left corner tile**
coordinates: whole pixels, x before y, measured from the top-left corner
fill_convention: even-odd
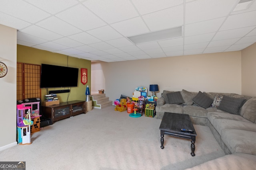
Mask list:
[[[64,36],[82,32],[81,29],[78,29],[54,16],[40,21],[36,23],[36,25]]]

